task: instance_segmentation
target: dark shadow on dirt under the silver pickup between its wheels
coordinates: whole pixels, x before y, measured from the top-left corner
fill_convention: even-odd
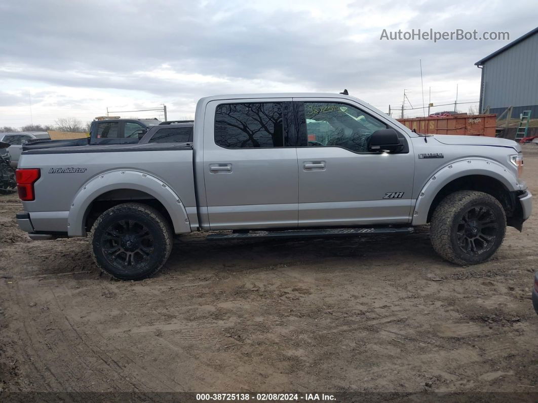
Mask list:
[[[332,238],[205,241],[182,237],[164,271],[244,271],[309,265],[357,267],[446,264],[430,244],[429,232]]]

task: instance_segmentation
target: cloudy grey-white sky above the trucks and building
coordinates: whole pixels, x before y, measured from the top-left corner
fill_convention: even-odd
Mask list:
[[[0,0],[0,126],[163,103],[180,119],[202,96],[277,91],[347,88],[387,111],[407,89],[421,107],[419,59],[426,102],[430,87],[432,102],[454,102],[456,86],[477,101],[473,63],[509,41],[387,41],[383,29],[513,40],[537,21],[535,0]]]

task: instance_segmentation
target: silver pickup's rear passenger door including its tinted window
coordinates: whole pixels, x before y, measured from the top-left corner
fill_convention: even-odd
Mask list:
[[[203,175],[212,230],[297,227],[291,107],[291,98],[208,103]]]

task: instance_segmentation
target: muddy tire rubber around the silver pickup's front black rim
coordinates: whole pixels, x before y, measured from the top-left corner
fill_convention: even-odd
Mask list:
[[[494,239],[490,244],[484,242],[484,245],[489,245],[489,247],[478,254],[476,254],[476,251],[475,253],[472,253],[471,250],[466,252],[460,244],[460,242],[463,242],[464,244],[466,242],[463,240],[465,235],[461,235],[461,229],[464,228],[463,232],[465,232],[465,228],[467,228],[465,224],[462,224],[462,220],[466,213],[475,211],[473,209],[478,209],[478,211],[483,211],[483,209],[490,211],[490,221],[494,223],[493,225],[497,226],[493,230],[491,227],[487,228],[487,230],[491,232],[484,236],[494,235]],[[468,216],[466,216],[466,218],[468,218]],[[470,231],[474,231],[476,227],[471,226],[471,228]],[[485,231],[486,226],[484,226],[484,228]],[[458,265],[477,264],[490,259],[497,249],[499,249],[499,246],[504,239],[505,232],[506,215],[504,208],[502,208],[499,201],[492,195],[476,192],[475,190],[459,190],[458,192],[446,196],[435,209],[430,223],[430,238],[434,250],[443,259]],[[471,236],[473,236],[472,232]],[[460,239],[462,241],[459,241]],[[473,245],[474,244],[475,243],[473,242]],[[469,245],[469,242],[467,242],[466,245]]]

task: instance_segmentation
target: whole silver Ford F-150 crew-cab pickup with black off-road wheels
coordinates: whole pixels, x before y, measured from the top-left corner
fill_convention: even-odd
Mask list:
[[[96,264],[119,279],[157,272],[173,237],[199,230],[397,235],[430,223],[438,254],[466,265],[489,259],[506,225],[522,230],[522,165],[511,140],[419,135],[351,96],[211,96],[193,142],[23,151],[17,221],[32,239],[89,234]]]

